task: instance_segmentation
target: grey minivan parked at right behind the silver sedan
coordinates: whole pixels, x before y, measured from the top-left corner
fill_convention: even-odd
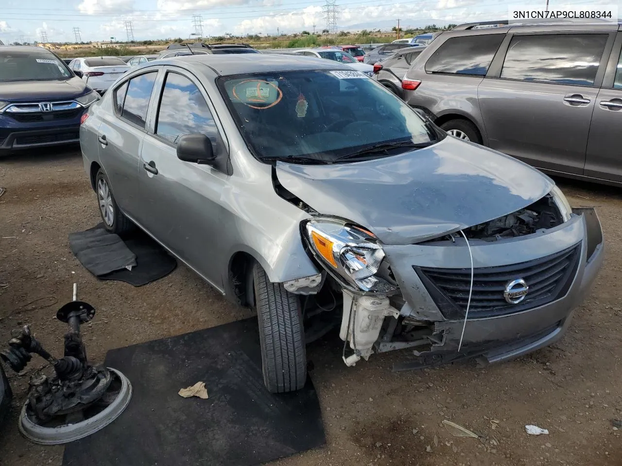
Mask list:
[[[404,99],[456,137],[550,173],[622,183],[620,25],[502,23],[443,32],[407,71]]]

